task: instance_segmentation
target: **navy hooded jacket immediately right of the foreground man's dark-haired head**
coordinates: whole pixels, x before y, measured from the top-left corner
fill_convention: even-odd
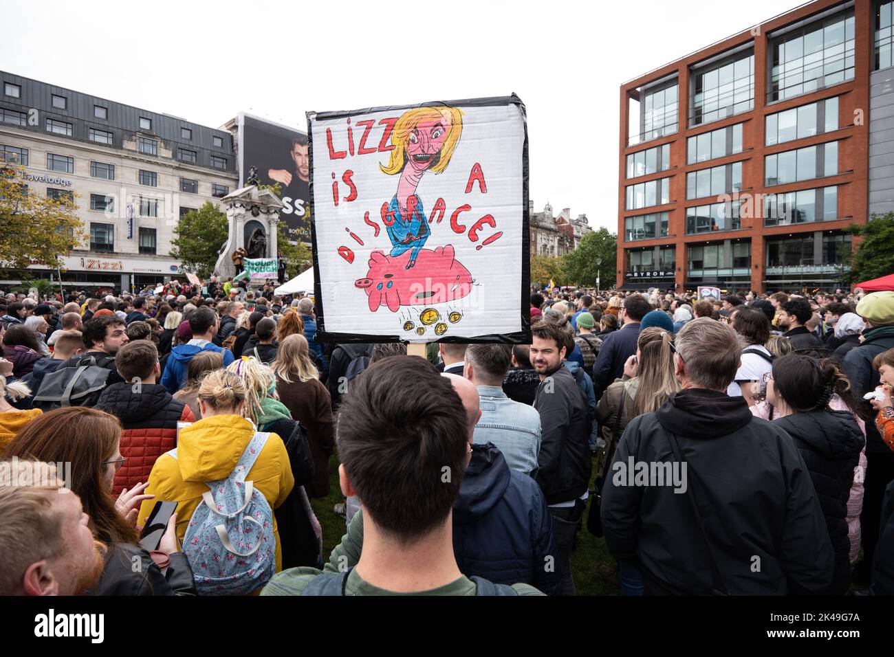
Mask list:
[[[561,590],[552,516],[534,479],[506,465],[493,442],[472,445],[453,503],[453,553],[463,573],[500,584],[523,582],[547,595]]]

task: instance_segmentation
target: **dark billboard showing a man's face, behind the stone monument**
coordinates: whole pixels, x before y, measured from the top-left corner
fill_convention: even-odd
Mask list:
[[[257,167],[262,184],[279,183],[283,210],[292,240],[309,241],[310,160],[304,132],[268,122],[250,114],[239,115],[240,187]]]

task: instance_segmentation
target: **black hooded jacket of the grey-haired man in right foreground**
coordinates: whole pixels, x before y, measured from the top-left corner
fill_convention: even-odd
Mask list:
[[[672,467],[671,432],[687,461],[686,492],[675,493],[682,486],[673,484],[629,485],[631,460],[635,470],[645,463],[655,475],[656,466]],[[688,389],[627,426],[603,486],[609,552],[638,562],[649,593],[718,587],[687,500],[693,491],[730,594],[785,594],[789,581],[811,593],[828,589],[835,559],[829,531],[791,436],[752,416],[741,397]]]

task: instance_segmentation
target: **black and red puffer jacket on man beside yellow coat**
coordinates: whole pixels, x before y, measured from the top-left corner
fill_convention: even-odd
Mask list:
[[[114,475],[114,494],[148,482],[156,459],[177,446],[177,423],[195,422],[190,407],[173,399],[157,383],[113,383],[103,391],[97,409],[111,413],[124,426],[122,467]]]

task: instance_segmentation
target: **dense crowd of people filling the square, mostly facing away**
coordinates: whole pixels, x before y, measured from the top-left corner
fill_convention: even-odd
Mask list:
[[[894,593],[894,291],[533,292],[419,358],[156,290],[0,299],[0,594],[574,595],[585,524],[625,595]]]

